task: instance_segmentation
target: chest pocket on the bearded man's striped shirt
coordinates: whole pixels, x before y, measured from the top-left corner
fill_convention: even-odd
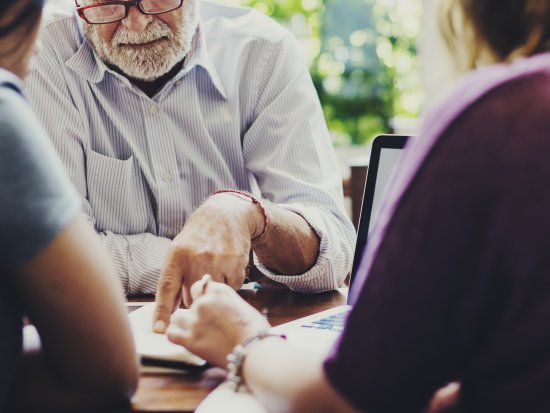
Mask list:
[[[98,231],[153,231],[149,190],[133,156],[121,160],[86,149],[86,183]]]

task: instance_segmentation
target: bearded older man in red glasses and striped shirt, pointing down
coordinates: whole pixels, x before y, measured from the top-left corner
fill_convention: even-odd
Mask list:
[[[251,266],[295,291],[341,285],[354,230],[297,41],[198,0],[76,11],[46,23],[30,100],[127,294],[161,273],[164,299],[204,273],[237,289]]]

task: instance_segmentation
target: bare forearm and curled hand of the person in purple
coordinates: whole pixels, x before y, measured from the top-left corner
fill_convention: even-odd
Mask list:
[[[225,367],[226,356],[239,343],[269,327],[264,317],[221,283],[192,288],[190,310],[172,316],[168,337],[211,363]],[[324,356],[310,354],[278,338],[247,348],[244,379],[273,412],[355,412],[332,388],[322,367]]]

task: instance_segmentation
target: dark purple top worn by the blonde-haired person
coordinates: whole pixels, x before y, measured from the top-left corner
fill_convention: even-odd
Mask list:
[[[550,55],[470,73],[424,120],[325,362],[369,412],[550,411]]]

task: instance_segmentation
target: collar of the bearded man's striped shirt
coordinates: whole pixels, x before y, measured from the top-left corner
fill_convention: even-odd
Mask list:
[[[130,81],[126,77],[109,69],[109,67],[99,58],[90,43],[84,37],[83,22],[81,22],[76,15],[74,18],[76,19],[78,24],[81,44],[76,53],[69,60],[67,60],[67,67],[69,67],[91,83],[101,82],[105,77],[105,72],[108,71],[129,84]],[[225,87],[222,83],[218,71],[216,70],[212,57],[208,53],[208,47],[206,43],[207,42],[206,36],[204,34],[203,23],[200,22],[197,27],[197,32],[193,37],[191,50],[185,58],[185,62],[181,71],[174,77],[173,81],[181,79],[196,66],[200,66],[205,69],[212,83],[225,99],[227,98]]]

